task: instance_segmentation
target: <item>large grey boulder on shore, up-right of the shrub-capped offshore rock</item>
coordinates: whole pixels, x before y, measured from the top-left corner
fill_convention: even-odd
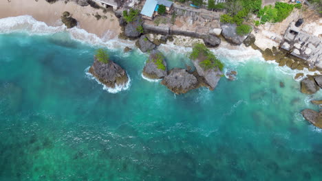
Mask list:
[[[247,35],[239,36],[236,33],[236,27],[235,24],[224,24],[222,25],[222,36],[229,42],[233,43],[235,45],[241,45],[241,43],[244,42],[244,40],[247,38]]]

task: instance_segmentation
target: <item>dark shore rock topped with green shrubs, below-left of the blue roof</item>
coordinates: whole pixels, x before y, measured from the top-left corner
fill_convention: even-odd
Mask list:
[[[137,38],[143,33],[142,23],[139,10],[131,9],[123,11],[123,19],[126,22],[125,36],[129,38]],[[121,24],[121,22],[120,22]],[[122,22],[122,24],[125,24]]]

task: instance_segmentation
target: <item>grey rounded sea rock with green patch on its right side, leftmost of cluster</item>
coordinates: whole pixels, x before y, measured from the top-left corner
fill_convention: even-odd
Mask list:
[[[167,76],[167,62],[160,51],[151,51],[142,73],[149,79],[162,79]]]

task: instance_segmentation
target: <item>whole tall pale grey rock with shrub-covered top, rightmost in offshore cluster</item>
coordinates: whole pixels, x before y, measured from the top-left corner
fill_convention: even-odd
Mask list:
[[[224,64],[203,44],[193,47],[190,58],[198,75],[204,77],[206,84],[213,90],[223,76]]]

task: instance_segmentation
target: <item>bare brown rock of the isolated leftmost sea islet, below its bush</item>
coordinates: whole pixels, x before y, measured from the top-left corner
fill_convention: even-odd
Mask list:
[[[129,81],[125,70],[111,60],[105,64],[94,58],[94,64],[89,68],[88,72],[109,88],[125,85]]]

